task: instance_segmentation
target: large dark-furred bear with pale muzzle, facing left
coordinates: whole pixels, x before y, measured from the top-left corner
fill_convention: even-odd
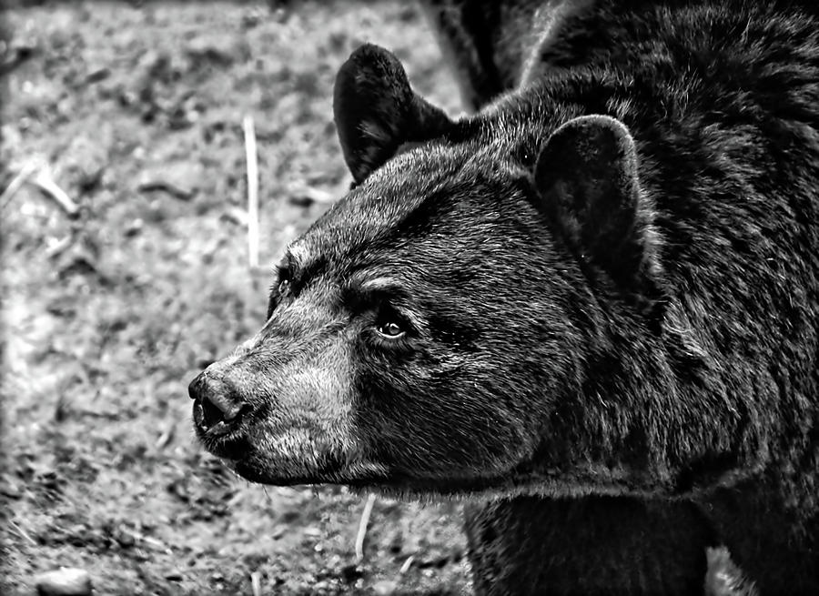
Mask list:
[[[474,115],[379,46],[340,67],[353,184],[190,383],[197,438],[255,482],[467,500],[480,594],[703,593],[720,545],[819,593],[819,19],[539,10]]]

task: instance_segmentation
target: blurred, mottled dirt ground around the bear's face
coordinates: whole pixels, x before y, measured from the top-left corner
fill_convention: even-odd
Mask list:
[[[193,436],[187,383],[263,322],[272,266],[349,185],[335,72],[363,41],[460,112],[414,5],[72,3],[7,11],[0,192],[0,593],[59,566],[96,594],[469,591],[457,503],[239,480]],[[242,120],[261,263],[248,268]],[[405,563],[412,557],[409,568]]]

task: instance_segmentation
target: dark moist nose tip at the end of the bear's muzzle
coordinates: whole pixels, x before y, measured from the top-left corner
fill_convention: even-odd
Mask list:
[[[215,379],[207,370],[199,373],[187,386],[194,399],[194,421],[198,429],[211,435],[226,434],[236,428],[248,404],[239,398],[236,388],[226,379]]]

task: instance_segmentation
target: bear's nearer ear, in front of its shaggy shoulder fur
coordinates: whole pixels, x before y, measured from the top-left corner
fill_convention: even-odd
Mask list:
[[[653,208],[640,188],[637,149],[610,116],[558,128],[535,166],[541,209],[589,270],[604,270],[642,308],[665,302]]]

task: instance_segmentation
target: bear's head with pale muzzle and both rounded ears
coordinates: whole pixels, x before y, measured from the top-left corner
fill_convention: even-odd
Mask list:
[[[600,296],[657,333],[634,141],[610,116],[533,124],[507,104],[453,121],[387,50],[342,66],[353,187],[288,247],[264,327],[190,386],[198,438],[238,474],[447,494],[642,481],[644,461],[591,445],[579,397]]]

